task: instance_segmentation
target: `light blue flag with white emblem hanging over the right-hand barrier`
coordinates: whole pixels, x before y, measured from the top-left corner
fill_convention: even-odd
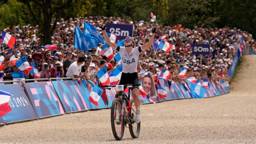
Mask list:
[[[201,87],[197,84],[193,84],[191,82],[188,82],[190,84],[190,91],[191,91],[191,97],[192,98],[203,98],[204,93],[207,91],[204,87]]]

